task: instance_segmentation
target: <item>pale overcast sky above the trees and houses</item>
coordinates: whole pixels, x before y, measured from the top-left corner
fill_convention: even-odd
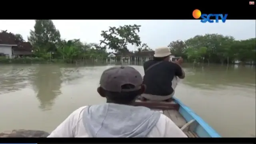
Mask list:
[[[80,38],[82,42],[99,43],[101,30],[109,26],[125,24],[141,25],[142,43],[153,50],[167,46],[174,40],[186,40],[198,34],[218,33],[234,36],[237,40],[255,38],[255,20],[227,20],[225,23],[201,23],[200,20],[53,20],[60,30],[61,38],[70,40]],[[0,20],[0,30],[22,34],[25,40],[29,31],[34,30],[34,20]],[[134,47],[129,46],[130,50]]]

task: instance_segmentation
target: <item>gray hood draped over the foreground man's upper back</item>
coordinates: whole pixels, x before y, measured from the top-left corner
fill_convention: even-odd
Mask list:
[[[160,118],[160,112],[142,106],[106,103],[87,106],[83,123],[90,137],[146,137]]]

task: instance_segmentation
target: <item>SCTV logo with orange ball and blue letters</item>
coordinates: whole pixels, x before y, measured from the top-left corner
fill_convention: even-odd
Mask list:
[[[223,14],[201,14],[201,11],[196,9],[193,11],[193,17],[196,19],[202,18],[201,20],[202,23],[206,23],[206,22],[214,23],[214,20],[211,20],[211,17],[215,17],[216,23],[218,23],[219,20],[222,20],[222,22],[225,23],[228,17],[228,14],[224,14],[224,16]]]

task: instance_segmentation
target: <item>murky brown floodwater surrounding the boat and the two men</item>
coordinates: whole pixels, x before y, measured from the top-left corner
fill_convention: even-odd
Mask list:
[[[0,132],[51,132],[73,110],[105,102],[96,92],[108,66],[0,65]],[[135,66],[144,75],[142,66]],[[223,137],[255,137],[255,67],[184,65],[176,97]]]

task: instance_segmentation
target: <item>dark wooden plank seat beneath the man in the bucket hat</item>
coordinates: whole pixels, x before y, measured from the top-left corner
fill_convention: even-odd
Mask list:
[[[179,104],[177,104],[174,101],[171,101],[171,102],[153,101],[153,100],[141,101],[141,100],[137,99],[133,105],[134,106],[145,106],[150,109],[160,109],[160,110],[178,110],[179,109]]]

